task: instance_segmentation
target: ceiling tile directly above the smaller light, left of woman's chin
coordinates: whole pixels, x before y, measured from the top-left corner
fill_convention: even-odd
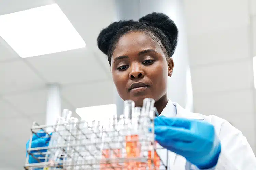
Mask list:
[[[62,88],[62,95],[75,108],[113,104],[113,86],[112,81],[64,86]]]

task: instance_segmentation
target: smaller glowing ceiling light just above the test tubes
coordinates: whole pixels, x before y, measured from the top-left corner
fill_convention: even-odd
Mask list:
[[[116,105],[100,105],[92,107],[77,108],[76,113],[83,120],[104,120],[116,115]]]

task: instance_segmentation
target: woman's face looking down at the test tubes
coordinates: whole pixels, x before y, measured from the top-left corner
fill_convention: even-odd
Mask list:
[[[167,78],[173,61],[151,37],[142,32],[123,35],[111,58],[113,81],[123,100],[142,106],[144,98],[155,101],[166,97]]]

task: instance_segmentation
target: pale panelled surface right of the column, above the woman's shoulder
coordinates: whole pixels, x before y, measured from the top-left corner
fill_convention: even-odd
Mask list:
[[[184,9],[194,110],[228,120],[255,152],[252,38],[256,3],[250,2],[184,0]],[[249,8],[254,8],[254,14]]]

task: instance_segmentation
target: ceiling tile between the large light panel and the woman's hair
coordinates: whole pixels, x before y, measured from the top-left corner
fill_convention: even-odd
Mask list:
[[[100,31],[116,19],[115,0],[55,0],[61,10],[85,40],[86,46],[96,46]],[[75,10],[71,10],[75,9]],[[104,13],[104,14],[103,14]],[[102,14],[104,17],[102,17]],[[82,17],[81,19],[81,16]],[[90,25],[89,23],[93,23]]]

